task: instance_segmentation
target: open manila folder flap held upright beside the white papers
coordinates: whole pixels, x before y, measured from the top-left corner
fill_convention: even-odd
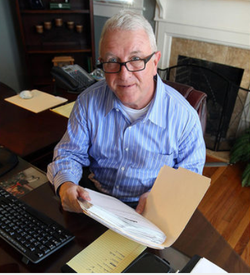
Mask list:
[[[167,236],[162,249],[178,239],[205,195],[210,181],[182,167],[161,168],[147,198],[143,216]]]

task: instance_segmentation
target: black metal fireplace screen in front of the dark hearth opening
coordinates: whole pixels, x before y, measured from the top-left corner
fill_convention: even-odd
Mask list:
[[[176,66],[161,70],[163,79],[193,86],[207,94],[205,141],[208,149],[229,150],[221,146],[227,131],[243,76],[243,69],[186,56]]]

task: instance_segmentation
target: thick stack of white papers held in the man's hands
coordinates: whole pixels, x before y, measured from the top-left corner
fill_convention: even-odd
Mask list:
[[[133,208],[114,197],[85,190],[91,197],[91,202],[79,200],[85,214],[141,244],[162,244],[165,241],[165,234]]]

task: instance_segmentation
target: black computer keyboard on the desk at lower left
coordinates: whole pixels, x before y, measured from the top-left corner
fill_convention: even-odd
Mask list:
[[[74,239],[57,222],[1,187],[0,237],[24,256],[25,263],[38,263]]]

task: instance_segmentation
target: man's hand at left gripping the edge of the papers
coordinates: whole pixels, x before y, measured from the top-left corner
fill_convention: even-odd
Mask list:
[[[64,182],[60,186],[59,196],[63,209],[69,212],[82,212],[82,208],[77,201],[78,198],[90,201],[89,193],[83,187],[70,181]]]

